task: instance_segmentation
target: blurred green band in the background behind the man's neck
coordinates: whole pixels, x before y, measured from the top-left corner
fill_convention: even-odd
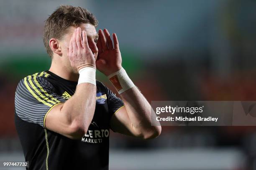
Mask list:
[[[129,74],[135,75],[138,70],[143,69],[143,62],[138,57],[138,52],[131,50],[122,51],[123,67]],[[6,60],[0,63],[0,72],[10,76],[10,80],[20,80],[27,75],[49,70],[51,59],[47,53],[18,53],[8,55]],[[107,77],[97,71],[97,79],[105,80]]]

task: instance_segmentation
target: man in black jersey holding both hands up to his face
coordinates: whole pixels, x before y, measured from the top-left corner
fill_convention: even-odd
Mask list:
[[[156,138],[151,106],[126,74],[118,38],[97,33],[82,7],[60,6],[46,20],[49,70],[22,79],[15,93],[15,125],[31,170],[107,170],[109,129]],[[109,77],[122,100],[95,80]],[[155,114],[152,115],[155,117]]]

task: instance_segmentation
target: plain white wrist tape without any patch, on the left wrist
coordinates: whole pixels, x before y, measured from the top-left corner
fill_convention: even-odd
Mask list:
[[[96,85],[96,70],[92,67],[84,67],[79,70],[78,84],[89,82]]]

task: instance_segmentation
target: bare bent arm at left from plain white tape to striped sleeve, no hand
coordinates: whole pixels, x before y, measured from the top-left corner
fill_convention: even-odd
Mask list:
[[[71,139],[87,132],[95,111],[96,86],[82,83],[64,104],[56,105],[46,116],[46,128]]]

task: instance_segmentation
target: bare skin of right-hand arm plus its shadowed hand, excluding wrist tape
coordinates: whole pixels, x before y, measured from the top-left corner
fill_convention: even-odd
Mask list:
[[[96,61],[97,69],[106,76],[122,68],[122,58],[119,50],[118,38],[113,34],[113,42],[108,30],[99,30],[100,60]],[[114,45],[113,45],[114,44]],[[118,133],[138,138],[156,138],[161,133],[161,126],[151,125],[151,105],[137,87],[122,92],[121,98],[125,107],[120,108],[111,118],[111,127]],[[153,118],[156,116],[153,112]]]

